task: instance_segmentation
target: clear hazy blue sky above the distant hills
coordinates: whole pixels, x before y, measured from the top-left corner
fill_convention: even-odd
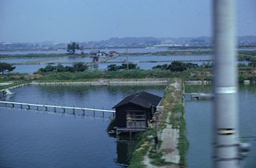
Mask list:
[[[211,0],[0,0],[0,41],[212,35]],[[237,0],[237,35],[256,36],[256,1]]]

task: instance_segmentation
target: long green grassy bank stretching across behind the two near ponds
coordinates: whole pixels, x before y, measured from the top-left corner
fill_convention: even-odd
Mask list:
[[[242,67],[243,68],[243,67]],[[238,80],[256,81],[253,70],[239,70]],[[84,72],[46,72],[42,74],[8,73],[0,75],[0,82],[5,81],[94,81],[96,79],[144,79],[144,78],[182,78],[185,80],[211,80],[211,68],[172,72],[170,70],[122,70],[102,71],[86,70]]]

